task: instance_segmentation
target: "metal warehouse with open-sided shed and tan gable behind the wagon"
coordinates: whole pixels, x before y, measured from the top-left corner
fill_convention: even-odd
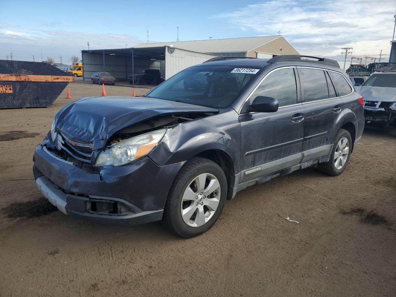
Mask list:
[[[132,48],[82,50],[83,79],[95,71],[110,72],[118,80],[145,69],[160,69],[165,79],[215,56],[270,58],[299,53],[283,36],[156,42]]]

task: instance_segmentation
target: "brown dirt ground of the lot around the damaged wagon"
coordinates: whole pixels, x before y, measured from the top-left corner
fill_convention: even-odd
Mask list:
[[[307,168],[239,192],[184,240],[160,223],[77,221],[42,198],[34,147],[57,110],[101,95],[68,88],[49,108],[0,110],[0,296],[395,296],[396,129],[366,128],[338,177]]]

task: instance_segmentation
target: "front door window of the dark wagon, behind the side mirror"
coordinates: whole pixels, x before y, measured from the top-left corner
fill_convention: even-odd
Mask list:
[[[273,97],[279,107],[297,103],[297,84],[293,68],[283,68],[269,74],[251,95],[250,105],[257,96]]]

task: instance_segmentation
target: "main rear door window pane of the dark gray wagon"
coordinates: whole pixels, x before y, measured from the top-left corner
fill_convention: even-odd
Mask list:
[[[304,102],[329,98],[327,80],[324,70],[314,68],[298,68],[301,87],[304,90]]]

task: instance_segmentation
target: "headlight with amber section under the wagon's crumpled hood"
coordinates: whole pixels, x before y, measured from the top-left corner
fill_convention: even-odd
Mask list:
[[[95,166],[121,166],[147,155],[164,137],[166,129],[138,135],[117,143],[99,154]]]

